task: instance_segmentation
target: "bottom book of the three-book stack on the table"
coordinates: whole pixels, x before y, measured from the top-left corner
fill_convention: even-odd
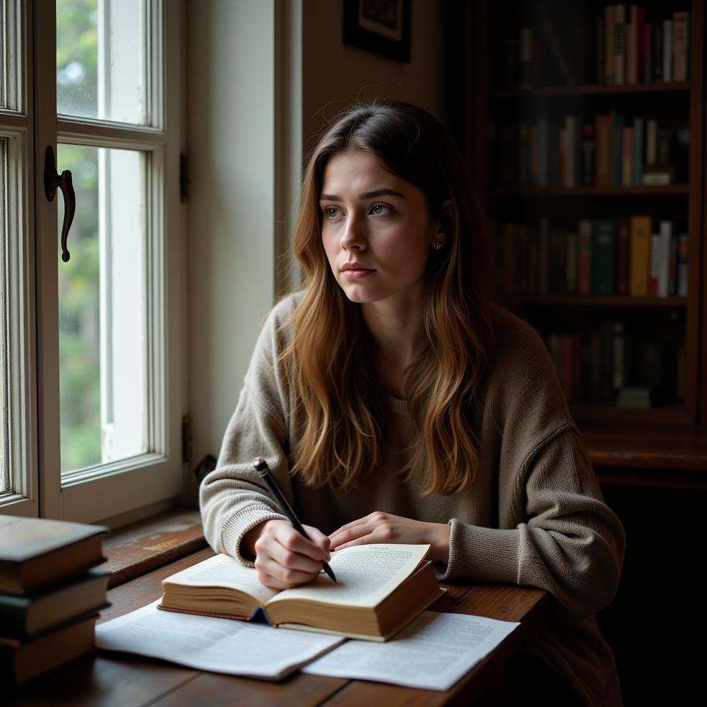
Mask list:
[[[27,641],[0,636],[0,679],[24,684],[95,649],[95,615]]]

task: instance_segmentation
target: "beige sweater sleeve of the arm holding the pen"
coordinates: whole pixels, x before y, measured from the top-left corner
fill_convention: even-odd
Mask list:
[[[204,533],[216,552],[223,552],[252,566],[240,543],[245,534],[271,519],[286,520],[267,486],[253,468],[263,457],[290,503],[293,490],[288,473],[288,394],[276,367],[279,320],[288,303],[278,305],[264,324],[245,376],[238,405],[226,428],[216,469],[206,475],[199,489]]]

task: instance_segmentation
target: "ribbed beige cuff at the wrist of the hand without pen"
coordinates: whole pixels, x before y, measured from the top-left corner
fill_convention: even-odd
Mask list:
[[[498,530],[449,521],[449,563],[441,582],[475,579],[482,582],[518,582],[517,529]]]

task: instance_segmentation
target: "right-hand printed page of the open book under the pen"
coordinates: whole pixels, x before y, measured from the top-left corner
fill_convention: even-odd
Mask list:
[[[419,565],[429,545],[361,545],[332,552],[329,565],[334,584],[325,574],[302,587],[286,589],[270,603],[305,599],[350,607],[375,607]]]

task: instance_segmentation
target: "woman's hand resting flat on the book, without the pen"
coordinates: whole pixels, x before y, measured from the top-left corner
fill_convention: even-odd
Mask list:
[[[376,510],[365,518],[342,525],[329,535],[329,540],[332,542],[332,550],[376,542],[430,544],[430,558],[446,564],[449,562],[449,534],[450,526],[447,523],[426,523]]]

